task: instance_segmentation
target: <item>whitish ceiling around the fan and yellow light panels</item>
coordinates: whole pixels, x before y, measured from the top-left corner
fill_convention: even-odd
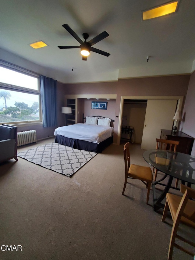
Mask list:
[[[176,13],[142,21],[141,11],[166,0],[1,0],[0,48],[58,71],[64,83],[191,73],[195,60],[195,1],[180,0]],[[63,27],[67,23],[88,41],[106,30],[107,38],[82,61],[80,45]],[[47,47],[33,49],[42,40]],[[150,56],[147,62],[147,56]],[[1,57],[0,57],[1,59]],[[73,71],[72,71],[73,68]]]

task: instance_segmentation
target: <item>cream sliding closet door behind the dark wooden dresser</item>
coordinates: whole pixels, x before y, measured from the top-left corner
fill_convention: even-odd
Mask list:
[[[172,129],[177,100],[148,100],[141,149],[156,148],[161,129]]]

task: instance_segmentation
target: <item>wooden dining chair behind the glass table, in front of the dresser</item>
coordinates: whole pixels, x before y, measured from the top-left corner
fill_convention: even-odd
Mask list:
[[[175,152],[176,151],[176,148],[177,148],[177,145],[179,144],[179,141],[173,141],[173,140],[165,140],[165,139],[158,139],[156,138],[156,149],[160,149],[160,150],[169,150],[169,151],[172,151],[172,148],[173,148],[173,151]],[[154,172],[154,167],[153,167],[153,172]],[[158,173],[158,170],[155,169],[155,173],[154,173],[154,181],[156,180],[156,177],[157,177],[157,173]],[[178,185],[178,180],[176,180],[176,187]]]

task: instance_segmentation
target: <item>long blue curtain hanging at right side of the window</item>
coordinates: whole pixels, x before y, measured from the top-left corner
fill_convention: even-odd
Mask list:
[[[50,126],[57,125],[56,86],[57,86],[57,80],[53,80],[43,75],[40,76],[43,127],[50,127]]]

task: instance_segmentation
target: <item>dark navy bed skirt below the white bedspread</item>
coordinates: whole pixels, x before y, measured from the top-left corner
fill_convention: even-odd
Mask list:
[[[101,153],[108,145],[112,144],[112,142],[113,142],[113,136],[109,137],[108,139],[102,141],[99,144],[83,141],[79,139],[71,139],[58,134],[55,136],[55,143],[59,143],[66,146],[70,146],[72,148],[95,152],[95,153]]]

